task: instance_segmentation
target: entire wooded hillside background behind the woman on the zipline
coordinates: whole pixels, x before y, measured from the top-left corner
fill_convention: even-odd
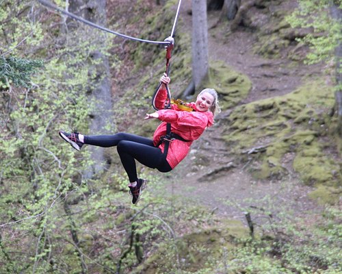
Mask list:
[[[163,40],[178,1],[53,3]],[[218,90],[222,113],[172,173],[138,166],[148,187],[131,206],[116,149],[77,152],[57,132],[152,136],[165,49],[0,0],[1,274],[341,273],[341,1],[205,6],[195,86]],[[194,29],[183,0],[170,88],[185,101]]]

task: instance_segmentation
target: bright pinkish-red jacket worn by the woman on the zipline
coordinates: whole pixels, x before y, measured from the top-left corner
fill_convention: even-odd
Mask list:
[[[213,113],[211,111],[200,112],[196,110],[195,103],[188,103],[190,107],[194,108],[193,112],[180,110],[177,105],[172,104],[171,109],[163,110],[166,101],[166,90],[159,90],[155,98],[155,106],[158,109],[159,120],[163,121],[153,134],[153,143],[158,145],[161,136],[166,135],[166,124],[171,124],[171,132],[178,134],[189,142],[181,140],[172,140],[168,149],[166,160],[171,168],[181,162],[189,152],[192,142],[200,137],[207,127],[213,125]],[[159,145],[159,149],[164,151],[165,143]]]

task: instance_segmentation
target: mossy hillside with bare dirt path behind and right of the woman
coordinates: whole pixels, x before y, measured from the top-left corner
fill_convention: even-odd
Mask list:
[[[159,30],[159,35],[167,34],[170,23],[163,25],[159,22],[163,16],[153,19],[151,14],[158,14],[160,10],[153,2],[147,2],[150,11],[146,15],[147,21],[152,22],[152,28]],[[282,242],[279,249],[270,248],[271,251],[266,253],[279,258],[286,271],[291,269],[289,273],[302,273],[301,266],[292,266],[292,262],[304,262],[306,250],[319,253],[314,247],[300,244],[304,238],[310,241],[311,237],[316,237],[313,236],[315,232],[305,234],[304,231],[315,231],[315,223],[325,222],[321,218],[327,216],[324,212],[329,204],[335,209],[341,206],[342,162],[337,149],[340,140],[330,134],[333,121],[329,113],[334,103],[331,68],[324,64],[304,64],[308,47],[299,45],[295,37],[302,36],[307,30],[293,30],[285,22],[285,15],[297,5],[295,0],[261,2],[265,5],[252,7],[244,24],[233,32],[229,22],[218,21],[220,10],[208,12],[211,81],[206,84],[220,92],[222,113],[215,118],[215,125],[194,142],[192,151],[172,173],[164,175],[142,169],[144,174],[153,178],[146,190],[148,195],[159,197],[172,208],[172,212],[175,210],[175,216],[179,214],[176,208],[192,204],[198,209],[196,214],[205,216],[205,221],[190,219],[191,225],[185,223],[185,226],[182,222],[173,223],[175,233],[181,237],[181,242],[176,244],[179,251],[170,251],[174,250],[172,243],[166,247],[161,245],[157,253],[150,254],[138,267],[137,273],[170,273],[170,269],[180,268],[199,271],[196,273],[213,273],[213,269],[216,269],[215,273],[285,271],[281,266],[277,268],[276,262],[259,262],[254,258],[253,251],[248,249],[248,240],[242,240],[246,253],[241,255],[241,261],[239,255],[234,257],[237,266],[233,261],[227,265],[224,263],[224,258],[230,257],[217,250],[218,242],[226,252],[234,252],[231,243],[235,240],[232,239],[244,238],[245,229],[251,229],[250,225],[263,235],[262,238],[265,237],[265,242],[268,237],[271,242]],[[168,5],[161,14],[167,13],[166,18],[172,18],[170,11],[172,14],[174,8],[174,5]],[[134,8],[128,10],[129,16],[124,20],[134,18]],[[180,90],[185,89],[191,77],[190,10],[191,1],[183,1],[172,59],[174,69],[170,87],[174,96],[181,96]],[[120,18],[116,20],[120,22]],[[146,34],[140,33],[140,24],[141,21],[126,26],[135,34]],[[144,90],[147,95],[143,99],[148,104],[150,90],[163,70],[163,52],[158,53],[149,47],[132,49],[128,43],[122,45],[123,51],[119,51],[119,55],[127,66],[119,72],[120,82],[116,82],[118,86],[114,86],[114,94],[118,90],[137,90],[137,93],[129,92],[129,96],[139,101],[140,90]],[[134,56],[140,56],[139,62],[130,58],[132,52]],[[144,62],[144,58],[148,62]],[[135,77],[128,73],[126,78],[127,71],[132,69]],[[187,98],[192,99],[194,97]],[[140,110],[131,110],[130,114],[136,115],[138,125],[124,123],[122,129],[129,127],[133,132],[150,136],[157,123],[144,125],[140,121],[144,113],[153,110],[142,100],[135,105]],[[144,204],[143,197],[140,206]],[[204,212],[209,212],[209,216]],[[183,215],[180,216],[182,219]],[[338,218],[334,220],[339,223]],[[239,226],[240,222],[244,228]],[[193,234],[192,225],[197,227]],[[293,236],[289,227],[295,227],[305,236]],[[182,244],[183,241],[186,244]],[[265,242],[262,240],[260,246],[256,244],[256,253],[259,248],[263,249]],[[289,249],[285,247],[287,243]],[[289,251],[292,248],[294,253]],[[178,261],[175,257],[170,259],[170,253],[180,256],[183,264],[173,264]],[[304,272],[328,269],[326,264],[319,263],[324,255],[320,253],[315,258],[317,261],[308,263],[313,268]],[[256,272],[244,272],[241,265]],[[223,269],[226,272],[221,272]],[[331,271],[335,273],[334,269]]]

